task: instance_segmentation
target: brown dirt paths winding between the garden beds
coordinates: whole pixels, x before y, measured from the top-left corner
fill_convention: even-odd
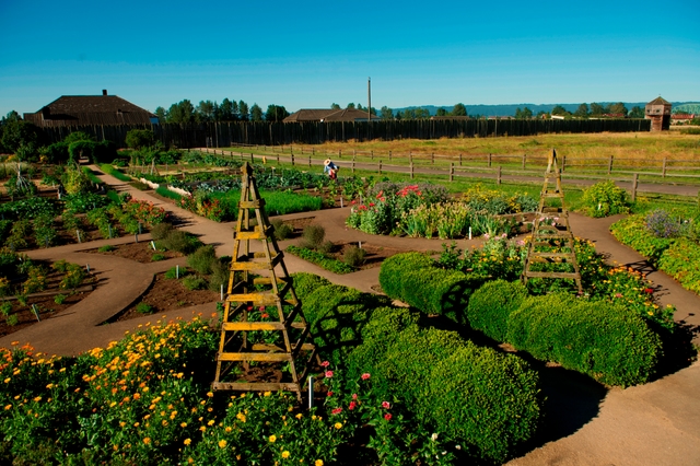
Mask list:
[[[95,166],[92,167],[97,171]],[[219,255],[230,255],[232,248],[232,223],[215,223],[194,215],[170,202],[161,201],[147,193],[108,175],[100,176],[117,190],[128,190],[137,199],[154,202],[171,211],[180,222],[183,230],[195,233],[205,243],[214,244]],[[316,223],[326,230],[328,240],[345,240],[390,246],[404,251],[440,252],[440,240],[377,237],[348,230],[345,219],[348,208],[284,215],[288,218],[314,217]],[[596,244],[598,252],[609,256],[610,261],[628,265],[649,272],[649,278],[657,286],[656,294],[663,304],[677,306],[676,319],[688,325],[700,326],[700,298],[684,290],[663,272],[649,267],[644,258],[627,246],[620,245],[608,229],[616,218],[593,220],[582,215],[571,215],[574,234]],[[144,235],[143,240],[149,237]],[[118,244],[133,238],[106,240],[104,244]],[[480,240],[459,241],[459,247],[477,246]],[[281,242],[284,248],[289,242]],[[215,311],[215,304],[178,310],[158,316],[102,325],[107,317],[118,313],[139,298],[150,284],[153,273],[184,264],[184,258],[171,259],[150,265],[135,265],[130,260],[112,256],[81,253],[94,248],[96,243],[40,249],[31,253],[36,258],[67,259],[78,264],[90,264],[98,275],[101,286],[80,304],[57,318],[50,318],[0,338],[0,346],[10,341],[31,342],[38,351],[59,354],[75,354],[105,346],[121,338],[125,331],[133,331],[147,323],[176,317],[188,318],[192,313],[205,317]],[[312,264],[288,255],[284,258],[290,272],[308,271],[329,280],[371,292],[378,284],[378,268],[355,273],[337,276]],[[696,338],[697,339],[697,338]],[[653,383],[604,391],[582,377],[556,377],[558,393],[553,393],[550,413],[552,426],[545,443],[530,450],[524,456],[508,463],[512,466],[529,465],[691,465],[700,464],[700,363],[682,369]],[[560,380],[561,378],[561,380]],[[563,382],[562,382],[563,381]],[[549,394],[548,394],[549,395]]]

